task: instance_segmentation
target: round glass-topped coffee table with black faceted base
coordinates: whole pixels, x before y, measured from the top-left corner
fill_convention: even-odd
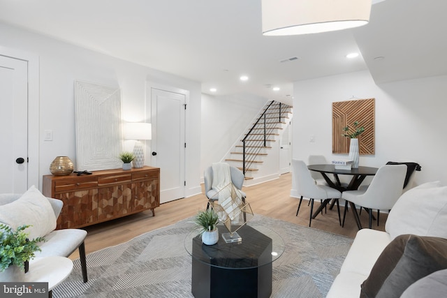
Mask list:
[[[194,297],[260,297],[272,294],[272,262],[284,253],[284,240],[277,232],[257,223],[242,226],[242,241],[226,243],[228,232],[218,225],[219,241],[202,244],[198,231],[184,239],[192,258],[191,292]]]

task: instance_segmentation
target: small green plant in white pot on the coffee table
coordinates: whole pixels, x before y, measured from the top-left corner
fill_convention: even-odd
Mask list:
[[[217,241],[219,241],[219,230],[217,230],[219,217],[212,208],[205,211],[199,211],[196,218],[194,218],[194,223],[196,223],[197,228],[200,229],[200,236],[202,237],[203,244],[217,244]]]

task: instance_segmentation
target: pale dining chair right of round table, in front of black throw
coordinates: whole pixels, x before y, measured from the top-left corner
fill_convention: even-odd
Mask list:
[[[369,228],[372,228],[372,211],[390,210],[393,208],[397,199],[402,195],[402,188],[404,186],[404,179],[406,175],[406,165],[383,165],[379,167],[371,184],[367,188],[362,188],[357,191],[344,191],[342,199],[346,200],[344,206],[343,223],[346,217],[346,210],[348,203],[353,209],[352,213],[356,221],[360,223],[356,211],[356,205],[360,208],[368,209],[369,213]]]

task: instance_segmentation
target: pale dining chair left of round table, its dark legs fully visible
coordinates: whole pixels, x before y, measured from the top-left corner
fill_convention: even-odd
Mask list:
[[[292,159],[292,171],[293,177],[297,181],[298,187],[298,195],[300,195],[300,203],[298,204],[298,209],[296,211],[296,215],[298,216],[298,212],[300,211],[302,198],[309,198],[311,207],[310,207],[310,217],[309,217],[309,227],[312,223],[312,212],[314,211],[314,199],[316,200],[336,200],[337,211],[338,211],[338,219],[339,224],[342,225],[342,220],[340,217],[340,207],[339,207],[339,198],[342,197],[342,193],[337,191],[335,188],[331,188],[325,185],[317,185],[315,184],[312,175],[307,168],[307,165],[304,161],[298,161],[296,159]]]

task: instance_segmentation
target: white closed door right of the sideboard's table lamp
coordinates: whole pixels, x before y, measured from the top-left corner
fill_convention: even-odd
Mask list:
[[[160,168],[160,202],[184,198],[186,95],[150,87],[152,165]]]

